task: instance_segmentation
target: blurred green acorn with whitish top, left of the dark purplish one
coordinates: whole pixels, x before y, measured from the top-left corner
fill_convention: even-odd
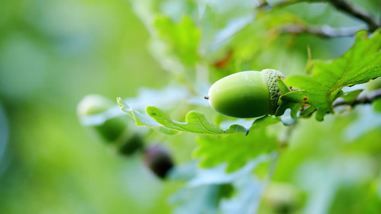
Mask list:
[[[122,117],[107,119],[107,110],[114,106],[116,103],[110,99],[98,94],[90,94],[79,102],[78,118],[83,126],[95,130],[104,142],[113,144],[118,152],[129,156],[142,149],[144,142],[141,134],[136,130],[130,130],[127,121]]]

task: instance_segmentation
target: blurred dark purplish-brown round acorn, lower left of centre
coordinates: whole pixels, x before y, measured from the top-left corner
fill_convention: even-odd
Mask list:
[[[171,154],[164,147],[154,145],[144,152],[144,163],[154,174],[165,179],[174,163]]]

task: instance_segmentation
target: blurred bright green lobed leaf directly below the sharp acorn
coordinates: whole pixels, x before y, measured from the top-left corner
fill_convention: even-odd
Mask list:
[[[198,137],[199,147],[194,157],[201,158],[200,166],[208,168],[227,162],[227,172],[233,172],[248,161],[263,153],[277,149],[279,142],[275,136],[266,133],[266,129],[253,129],[250,134],[240,136],[232,134],[227,137]]]

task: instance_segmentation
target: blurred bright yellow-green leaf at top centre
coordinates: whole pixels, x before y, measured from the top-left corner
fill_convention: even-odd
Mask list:
[[[201,32],[189,16],[183,16],[179,23],[159,16],[154,26],[159,38],[166,42],[168,51],[176,54],[184,64],[194,65],[199,60],[197,48]]]

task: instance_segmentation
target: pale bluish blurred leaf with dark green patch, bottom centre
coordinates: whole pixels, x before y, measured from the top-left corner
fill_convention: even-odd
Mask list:
[[[266,185],[252,174],[253,170],[258,164],[273,158],[273,155],[261,155],[230,174],[226,173],[226,164],[199,169],[191,161],[176,166],[171,171],[170,179],[188,181],[185,187],[170,197],[170,203],[176,206],[174,213],[253,213],[258,208]]]

